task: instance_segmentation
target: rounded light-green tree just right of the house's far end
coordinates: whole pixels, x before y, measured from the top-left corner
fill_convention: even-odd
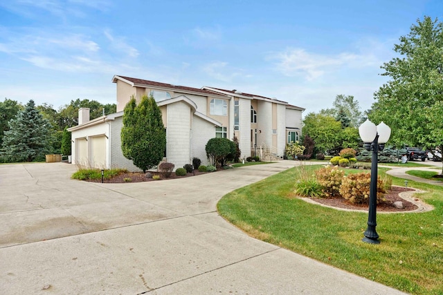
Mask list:
[[[302,133],[314,140],[319,152],[325,153],[340,144],[341,123],[329,115],[309,113],[303,120]]]

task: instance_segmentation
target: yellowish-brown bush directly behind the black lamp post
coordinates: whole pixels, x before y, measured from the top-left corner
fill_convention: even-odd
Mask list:
[[[340,187],[340,194],[343,198],[354,204],[368,204],[370,192],[370,173],[356,173],[343,178]],[[386,193],[385,184],[377,179],[377,204],[383,200]]]

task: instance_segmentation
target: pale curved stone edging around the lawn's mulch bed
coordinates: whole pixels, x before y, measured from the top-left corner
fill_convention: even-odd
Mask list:
[[[392,186],[392,187],[398,187],[398,186]],[[408,202],[415,204],[415,206],[418,207],[417,209],[411,210],[411,211],[377,211],[377,214],[421,213],[421,212],[431,211],[434,209],[434,207],[432,205],[426,204],[422,200],[415,200],[416,198],[413,198],[415,193],[426,193],[426,191],[422,191],[420,189],[414,189],[413,187],[408,187],[408,189],[413,189],[414,191],[403,191],[403,192],[399,193],[399,197],[408,201]],[[301,200],[304,200],[305,202],[311,203],[311,204],[316,204],[318,206],[332,208],[332,209],[341,210],[341,211],[352,211],[352,212],[367,212],[368,211],[368,209],[357,210],[357,209],[338,208],[338,207],[334,207],[334,206],[329,206],[327,204],[321,204],[319,202],[311,200],[310,198],[304,198],[304,197],[298,197],[298,198]]]

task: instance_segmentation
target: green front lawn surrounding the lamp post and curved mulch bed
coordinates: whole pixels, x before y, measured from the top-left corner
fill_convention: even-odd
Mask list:
[[[318,169],[320,166],[305,166]],[[443,294],[443,188],[410,181],[435,209],[378,214],[379,245],[361,241],[367,212],[338,211],[296,198],[289,169],[221,198],[221,216],[251,236],[412,294]],[[388,169],[379,169],[384,177]],[[347,169],[350,173],[361,172]],[[392,184],[403,185],[400,178]]]

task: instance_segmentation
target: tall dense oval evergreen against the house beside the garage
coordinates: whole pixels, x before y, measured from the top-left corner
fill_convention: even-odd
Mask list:
[[[161,111],[154,97],[141,97],[140,104],[132,97],[123,114],[121,131],[123,155],[145,173],[163,159],[166,131]]]

